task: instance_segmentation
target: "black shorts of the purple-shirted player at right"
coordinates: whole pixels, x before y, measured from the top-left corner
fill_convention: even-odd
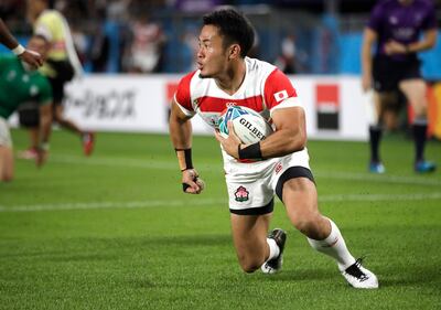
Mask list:
[[[398,89],[398,84],[404,79],[422,78],[420,66],[421,62],[417,56],[397,62],[388,56],[377,55],[373,64],[374,89],[379,93],[392,92]]]

